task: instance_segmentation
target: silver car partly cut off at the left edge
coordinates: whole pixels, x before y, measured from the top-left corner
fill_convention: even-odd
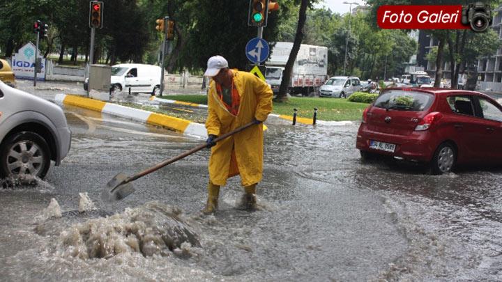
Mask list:
[[[70,150],[71,132],[61,107],[0,81],[0,178],[44,178]]]

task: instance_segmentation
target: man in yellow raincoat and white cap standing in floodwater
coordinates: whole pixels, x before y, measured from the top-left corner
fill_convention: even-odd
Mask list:
[[[254,210],[256,186],[263,171],[262,123],[272,111],[272,89],[250,72],[229,69],[222,56],[209,58],[204,75],[212,78],[206,120],[211,158],[208,201],[202,212],[208,214],[218,209],[220,186],[234,175],[241,175],[245,191],[239,207]],[[214,143],[219,135],[251,122],[256,125]]]

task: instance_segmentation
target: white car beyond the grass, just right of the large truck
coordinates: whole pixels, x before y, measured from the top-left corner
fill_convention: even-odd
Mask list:
[[[361,85],[358,77],[330,77],[319,88],[321,97],[347,98],[352,93],[360,91]]]

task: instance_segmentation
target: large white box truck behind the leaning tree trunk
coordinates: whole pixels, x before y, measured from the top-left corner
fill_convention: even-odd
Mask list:
[[[293,42],[276,42],[265,63],[265,78],[274,94],[279,92],[284,68],[293,48]],[[293,65],[288,86],[291,95],[317,93],[328,74],[328,47],[302,44]]]

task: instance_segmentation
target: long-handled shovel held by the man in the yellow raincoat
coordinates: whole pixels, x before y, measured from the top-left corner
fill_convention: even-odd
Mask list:
[[[228,136],[234,135],[237,132],[241,132],[252,125],[256,125],[256,123],[251,122],[251,123],[248,123],[247,125],[243,125],[241,127],[238,127],[235,130],[232,130],[231,132],[227,132],[227,133],[223,134],[222,136],[215,138],[213,141],[215,143],[222,141],[223,139],[227,138]],[[102,191],[101,197],[104,201],[109,201],[109,202],[119,201],[123,198],[126,198],[127,196],[129,196],[130,194],[132,194],[135,191],[134,187],[132,187],[132,183],[131,183],[132,181],[137,180],[138,178],[141,178],[144,175],[147,175],[149,173],[153,173],[153,171],[157,171],[158,169],[161,169],[162,167],[167,166],[168,164],[172,164],[172,163],[178,161],[179,159],[183,159],[184,157],[192,155],[194,152],[198,152],[199,150],[202,150],[206,147],[207,147],[206,143],[201,144],[201,145],[193,148],[192,150],[188,150],[187,152],[183,152],[183,154],[178,155],[176,157],[173,157],[172,159],[167,159],[164,162],[161,162],[160,164],[157,164],[156,166],[152,166],[149,169],[145,169],[144,171],[137,173],[135,175],[132,175],[131,177],[128,177],[128,175],[125,175],[124,173],[119,173],[119,174],[115,175],[115,177],[112,178],[112,180],[110,180],[107,183],[105,190]]]

